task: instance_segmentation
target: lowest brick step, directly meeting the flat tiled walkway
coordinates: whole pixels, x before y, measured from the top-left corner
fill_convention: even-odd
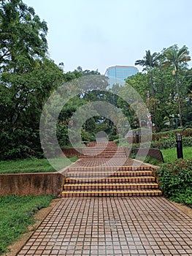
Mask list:
[[[109,190],[109,191],[63,191],[62,197],[133,197],[133,196],[160,196],[160,189],[138,189],[138,190]]]

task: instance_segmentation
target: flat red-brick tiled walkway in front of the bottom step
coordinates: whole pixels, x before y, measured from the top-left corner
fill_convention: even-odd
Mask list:
[[[192,219],[164,197],[64,198],[18,255],[192,255]]]

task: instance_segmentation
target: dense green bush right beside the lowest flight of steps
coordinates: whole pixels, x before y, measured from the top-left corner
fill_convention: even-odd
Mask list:
[[[192,159],[164,164],[158,174],[166,197],[192,207]]]

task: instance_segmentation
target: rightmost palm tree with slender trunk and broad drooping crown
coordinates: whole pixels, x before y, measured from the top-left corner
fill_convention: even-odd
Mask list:
[[[178,49],[177,45],[174,45],[170,48],[168,48],[165,51],[165,57],[166,61],[163,62],[162,67],[169,67],[173,65],[174,70],[172,74],[175,78],[175,85],[177,88],[177,102],[178,102],[178,108],[179,108],[179,114],[180,114],[180,127],[183,127],[182,124],[182,113],[181,113],[181,104],[180,104],[180,89],[179,89],[179,83],[177,79],[177,72],[180,67],[180,64],[191,61],[191,57],[189,56],[188,48],[184,45],[183,48]]]

